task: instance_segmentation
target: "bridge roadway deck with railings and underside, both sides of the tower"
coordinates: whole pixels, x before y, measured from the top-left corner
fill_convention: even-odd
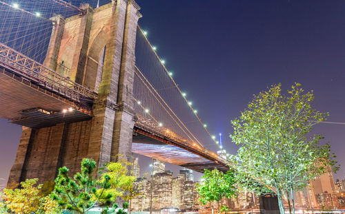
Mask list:
[[[90,120],[96,98],[95,92],[0,43],[1,118],[35,128]],[[199,172],[228,169],[217,154],[142,116],[133,129],[132,152]]]

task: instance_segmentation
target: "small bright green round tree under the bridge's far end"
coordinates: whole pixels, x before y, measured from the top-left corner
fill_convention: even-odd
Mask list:
[[[201,177],[203,183],[197,184],[197,191],[199,192],[199,201],[202,204],[209,202],[217,202],[218,212],[226,211],[224,206],[221,207],[221,200],[224,197],[234,197],[235,178],[233,171],[227,171],[225,174],[217,169],[210,171],[204,170],[204,176]]]

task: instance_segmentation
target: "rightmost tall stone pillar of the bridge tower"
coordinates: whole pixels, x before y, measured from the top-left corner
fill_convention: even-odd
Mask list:
[[[117,93],[119,111],[115,114],[111,161],[117,160],[117,154],[121,154],[126,160],[130,160],[132,156],[132,130],[135,124],[133,109],[135,41],[137,35],[137,21],[141,17],[141,14],[138,12],[139,9],[135,1],[128,1],[119,73],[119,89]]]

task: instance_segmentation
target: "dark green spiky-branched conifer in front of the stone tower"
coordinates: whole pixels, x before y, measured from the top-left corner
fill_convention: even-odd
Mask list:
[[[52,199],[64,210],[77,213],[86,213],[101,198],[104,202],[109,200],[112,195],[106,190],[110,189],[110,177],[103,175],[102,180],[97,182],[95,178],[92,178],[95,167],[94,160],[84,158],[81,161],[81,173],[76,173],[73,178],[68,176],[67,167],[61,167],[55,179]]]

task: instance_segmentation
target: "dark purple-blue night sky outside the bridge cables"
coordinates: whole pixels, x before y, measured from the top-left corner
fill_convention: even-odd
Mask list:
[[[313,107],[328,121],[345,122],[345,1],[137,0],[141,28],[157,46],[179,87],[188,92],[212,133],[223,133],[253,94],[298,82],[315,94]],[[345,125],[315,127],[345,164]],[[0,178],[14,162],[21,127],[0,120]],[[216,150],[216,147],[211,149]],[[141,158],[148,171],[148,158]],[[177,169],[169,165],[167,169]],[[345,178],[341,167],[335,178]],[[0,179],[0,184],[4,183]]]

